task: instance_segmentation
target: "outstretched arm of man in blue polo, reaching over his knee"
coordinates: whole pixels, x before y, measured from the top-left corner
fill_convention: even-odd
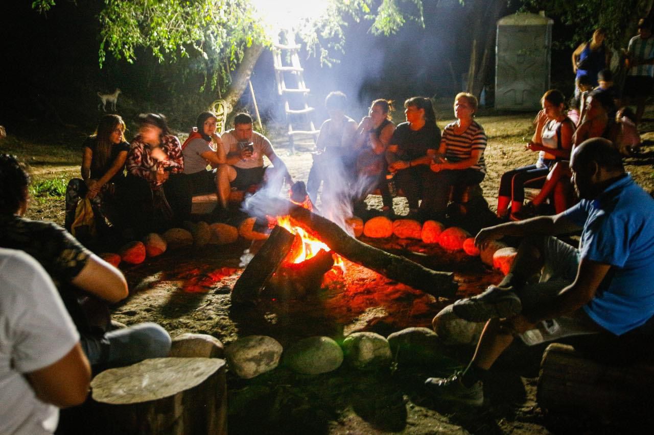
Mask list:
[[[536,216],[523,221],[500,223],[500,225],[483,228],[475,236],[475,246],[484,248],[492,240],[499,240],[504,236],[527,236],[529,234],[554,236],[573,233],[580,229],[579,225],[568,219],[563,213],[555,216]]]

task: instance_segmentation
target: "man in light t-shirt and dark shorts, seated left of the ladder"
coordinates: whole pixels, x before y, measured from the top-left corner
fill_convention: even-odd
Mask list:
[[[218,146],[218,199],[223,208],[227,208],[230,189],[235,187],[245,190],[250,185],[262,184],[264,173],[264,155],[273,163],[275,174],[266,178],[273,182],[276,179],[281,188],[282,177],[288,184],[293,179],[286,165],[280,159],[273,146],[264,135],[252,131],[252,117],[247,113],[239,113],[234,118],[234,128],[222,134],[222,147]],[[275,176],[277,175],[277,176]],[[272,185],[273,189],[277,187]]]

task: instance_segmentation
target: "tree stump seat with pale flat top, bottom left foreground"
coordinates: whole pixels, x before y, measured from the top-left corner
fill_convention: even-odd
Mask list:
[[[93,379],[94,434],[227,434],[226,362],[154,358]],[[81,432],[84,433],[84,432]]]

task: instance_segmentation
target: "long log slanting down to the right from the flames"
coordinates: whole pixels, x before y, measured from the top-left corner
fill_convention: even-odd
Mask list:
[[[331,250],[353,263],[365,266],[375,272],[410,285],[436,297],[453,297],[458,285],[454,274],[428,269],[413,261],[373,248],[347,234],[336,223],[319,216],[306,208],[283,199],[267,200],[266,214],[290,215],[300,227],[315,234]]]

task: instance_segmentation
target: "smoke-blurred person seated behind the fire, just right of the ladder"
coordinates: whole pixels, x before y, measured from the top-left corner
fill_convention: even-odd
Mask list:
[[[347,167],[352,167],[352,141],[356,121],[345,115],[347,97],[341,91],[330,92],[325,98],[329,119],[320,126],[316,139],[317,152],[307,179],[307,193],[313,204],[318,201],[318,189],[322,187],[322,203],[338,202],[349,184]]]

